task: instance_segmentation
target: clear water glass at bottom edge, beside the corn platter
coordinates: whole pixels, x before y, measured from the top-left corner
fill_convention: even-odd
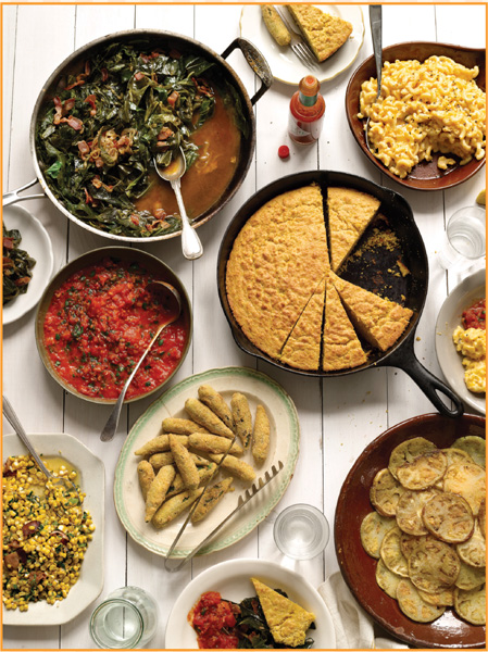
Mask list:
[[[158,604],[143,589],[123,587],[112,591],[90,618],[90,635],[99,648],[143,648],[158,627]]]

